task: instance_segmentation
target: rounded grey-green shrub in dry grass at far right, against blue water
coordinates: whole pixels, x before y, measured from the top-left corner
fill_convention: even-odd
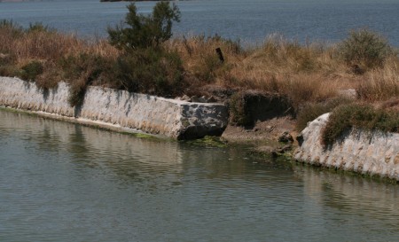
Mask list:
[[[360,29],[350,32],[349,37],[340,43],[340,52],[348,66],[357,74],[382,66],[393,49],[382,36]]]

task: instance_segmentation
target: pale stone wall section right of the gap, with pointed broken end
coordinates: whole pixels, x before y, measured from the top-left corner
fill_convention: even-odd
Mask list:
[[[352,129],[325,147],[320,140],[329,115],[321,115],[302,130],[295,160],[399,181],[399,134]]]

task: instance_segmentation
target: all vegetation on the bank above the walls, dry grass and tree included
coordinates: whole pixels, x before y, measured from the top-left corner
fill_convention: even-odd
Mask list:
[[[218,35],[171,38],[172,23],[179,20],[174,4],[155,4],[145,16],[130,4],[125,23],[109,27],[108,38],[94,40],[41,23],[20,27],[2,20],[0,75],[19,76],[43,89],[68,82],[71,105],[80,104],[88,85],[167,98],[214,95],[223,101],[246,90],[278,93],[291,100],[298,129],[349,103],[399,110],[397,50],[369,29],[354,30],[335,44],[272,35],[243,46]],[[356,97],[340,98],[340,90],[348,89],[356,90]],[[396,129],[387,129],[398,130],[397,121],[390,125]]]

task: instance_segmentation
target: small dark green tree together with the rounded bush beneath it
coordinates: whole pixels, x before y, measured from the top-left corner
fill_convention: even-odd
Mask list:
[[[150,15],[137,14],[128,5],[125,25],[108,27],[109,42],[124,53],[116,70],[121,88],[129,91],[171,96],[184,89],[184,67],[176,51],[162,48],[172,36],[172,23],[180,21],[175,4],[159,2]]]

